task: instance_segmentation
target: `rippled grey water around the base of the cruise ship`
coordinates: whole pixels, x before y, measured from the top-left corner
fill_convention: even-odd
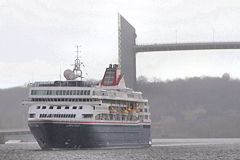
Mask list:
[[[37,143],[3,144],[0,159],[240,160],[240,139],[155,139],[149,148],[57,151],[43,151]]]

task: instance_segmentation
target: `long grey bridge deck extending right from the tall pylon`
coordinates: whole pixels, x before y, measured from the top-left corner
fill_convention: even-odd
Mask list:
[[[240,42],[201,42],[201,43],[169,43],[135,45],[135,52],[179,51],[179,50],[210,50],[210,49],[240,49]]]

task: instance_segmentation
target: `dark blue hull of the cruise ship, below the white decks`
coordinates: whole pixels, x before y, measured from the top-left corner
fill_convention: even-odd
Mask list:
[[[42,149],[150,146],[150,125],[29,123]]]

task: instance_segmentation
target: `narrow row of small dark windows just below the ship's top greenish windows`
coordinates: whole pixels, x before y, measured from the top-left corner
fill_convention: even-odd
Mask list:
[[[92,98],[32,98],[34,102],[94,102]]]

